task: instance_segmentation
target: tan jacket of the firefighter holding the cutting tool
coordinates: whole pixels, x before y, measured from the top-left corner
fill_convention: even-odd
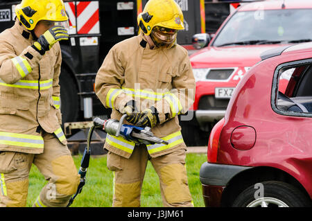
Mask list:
[[[152,132],[168,141],[168,145],[147,145],[151,157],[186,148],[177,116],[193,104],[195,87],[187,50],[179,45],[151,50],[143,35],[125,39],[111,48],[95,85],[103,105],[112,108],[111,118],[119,120],[122,114],[116,108],[132,98],[139,102],[141,111],[156,107],[160,123]],[[107,134],[104,148],[128,158],[135,143]]]

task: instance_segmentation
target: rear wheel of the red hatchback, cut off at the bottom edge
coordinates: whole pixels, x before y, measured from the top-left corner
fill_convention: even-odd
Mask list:
[[[263,195],[261,195],[261,188]],[[260,193],[260,194],[259,194]],[[261,182],[250,186],[236,197],[233,207],[310,207],[302,191],[291,184],[277,181]]]

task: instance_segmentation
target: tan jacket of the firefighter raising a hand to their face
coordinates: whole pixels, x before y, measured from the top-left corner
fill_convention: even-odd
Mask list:
[[[60,44],[45,55],[19,21],[0,34],[0,151],[39,154],[42,129],[63,144],[60,127]]]

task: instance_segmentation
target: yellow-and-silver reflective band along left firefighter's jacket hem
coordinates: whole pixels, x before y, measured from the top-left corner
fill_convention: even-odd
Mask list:
[[[44,148],[42,136],[0,132],[0,144],[26,148]]]

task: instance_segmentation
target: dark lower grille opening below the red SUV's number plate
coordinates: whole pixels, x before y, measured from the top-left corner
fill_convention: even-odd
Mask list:
[[[202,96],[198,103],[198,109],[227,109],[229,99],[216,99],[214,95]]]

